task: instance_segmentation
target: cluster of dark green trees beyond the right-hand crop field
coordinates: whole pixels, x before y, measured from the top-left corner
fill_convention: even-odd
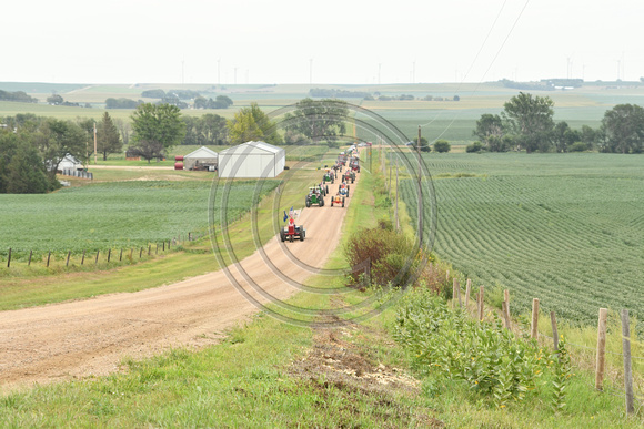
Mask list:
[[[644,109],[617,104],[604,113],[597,129],[583,125],[573,130],[567,122],[554,121],[554,102],[549,96],[520,92],[503,105],[501,114],[483,114],[473,135],[480,139],[467,152],[642,153],[644,151]]]

